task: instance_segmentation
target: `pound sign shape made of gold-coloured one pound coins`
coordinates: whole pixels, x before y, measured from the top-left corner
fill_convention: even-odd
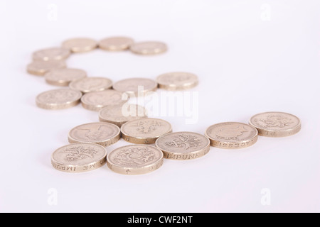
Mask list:
[[[111,37],[100,42],[90,38],[65,40],[60,48],[33,53],[28,65],[30,74],[44,76],[46,82],[65,89],[53,89],[36,97],[42,109],[67,109],[82,104],[84,109],[97,111],[100,122],[75,126],[68,134],[69,145],[55,150],[51,162],[64,172],[86,172],[107,163],[110,170],[124,175],[139,175],[159,169],[164,158],[194,160],[203,157],[210,147],[223,149],[247,148],[257,142],[258,135],[284,137],[301,129],[297,116],[283,112],[265,112],[250,118],[249,123],[223,122],[209,126],[201,135],[194,132],[173,132],[171,123],[149,118],[143,106],[129,104],[129,97],[145,95],[156,89],[169,91],[196,87],[198,77],[189,72],[160,74],[155,80],[128,78],[118,82],[106,77],[87,77],[84,70],[67,68],[65,60],[77,52],[100,48],[106,51],[131,50],[139,55],[166,52],[161,42],[135,43],[132,38]],[[107,147],[121,138],[133,145]],[[154,145],[151,145],[154,144]]]

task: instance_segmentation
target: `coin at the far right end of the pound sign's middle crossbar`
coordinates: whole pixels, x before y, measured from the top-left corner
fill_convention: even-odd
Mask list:
[[[169,72],[156,78],[159,88],[166,90],[185,90],[196,87],[198,77],[189,72]]]

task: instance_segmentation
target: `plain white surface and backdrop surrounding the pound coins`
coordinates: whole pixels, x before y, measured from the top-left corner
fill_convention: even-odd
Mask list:
[[[0,211],[320,211],[319,1],[0,2]],[[58,7],[56,21],[50,4]],[[263,111],[299,116],[302,131],[260,137],[242,150],[211,148],[198,160],[165,160],[148,175],[118,175],[107,166],[75,175],[53,169],[50,155],[68,144],[68,131],[97,121],[97,113],[38,109],[36,96],[55,87],[27,74],[26,65],[33,51],[67,38],[112,35],[164,41],[169,51],[144,57],[95,50],[73,55],[68,66],[114,82],[196,73],[198,121],[161,117],[174,131],[204,133]],[[57,206],[47,202],[51,188]],[[270,191],[270,206],[262,206],[262,189]]]

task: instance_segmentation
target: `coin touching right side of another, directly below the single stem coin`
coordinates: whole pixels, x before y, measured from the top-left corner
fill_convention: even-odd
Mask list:
[[[166,133],[171,133],[171,124],[157,118],[142,118],[128,121],[121,126],[122,138],[130,143],[151,144]]]

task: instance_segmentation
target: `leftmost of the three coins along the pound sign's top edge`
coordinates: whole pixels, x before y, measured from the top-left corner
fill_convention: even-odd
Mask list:
[[[72,52],[87,52],[97,48],[97,42],[90,38],[73,38],[65,40],[62,46]]]

